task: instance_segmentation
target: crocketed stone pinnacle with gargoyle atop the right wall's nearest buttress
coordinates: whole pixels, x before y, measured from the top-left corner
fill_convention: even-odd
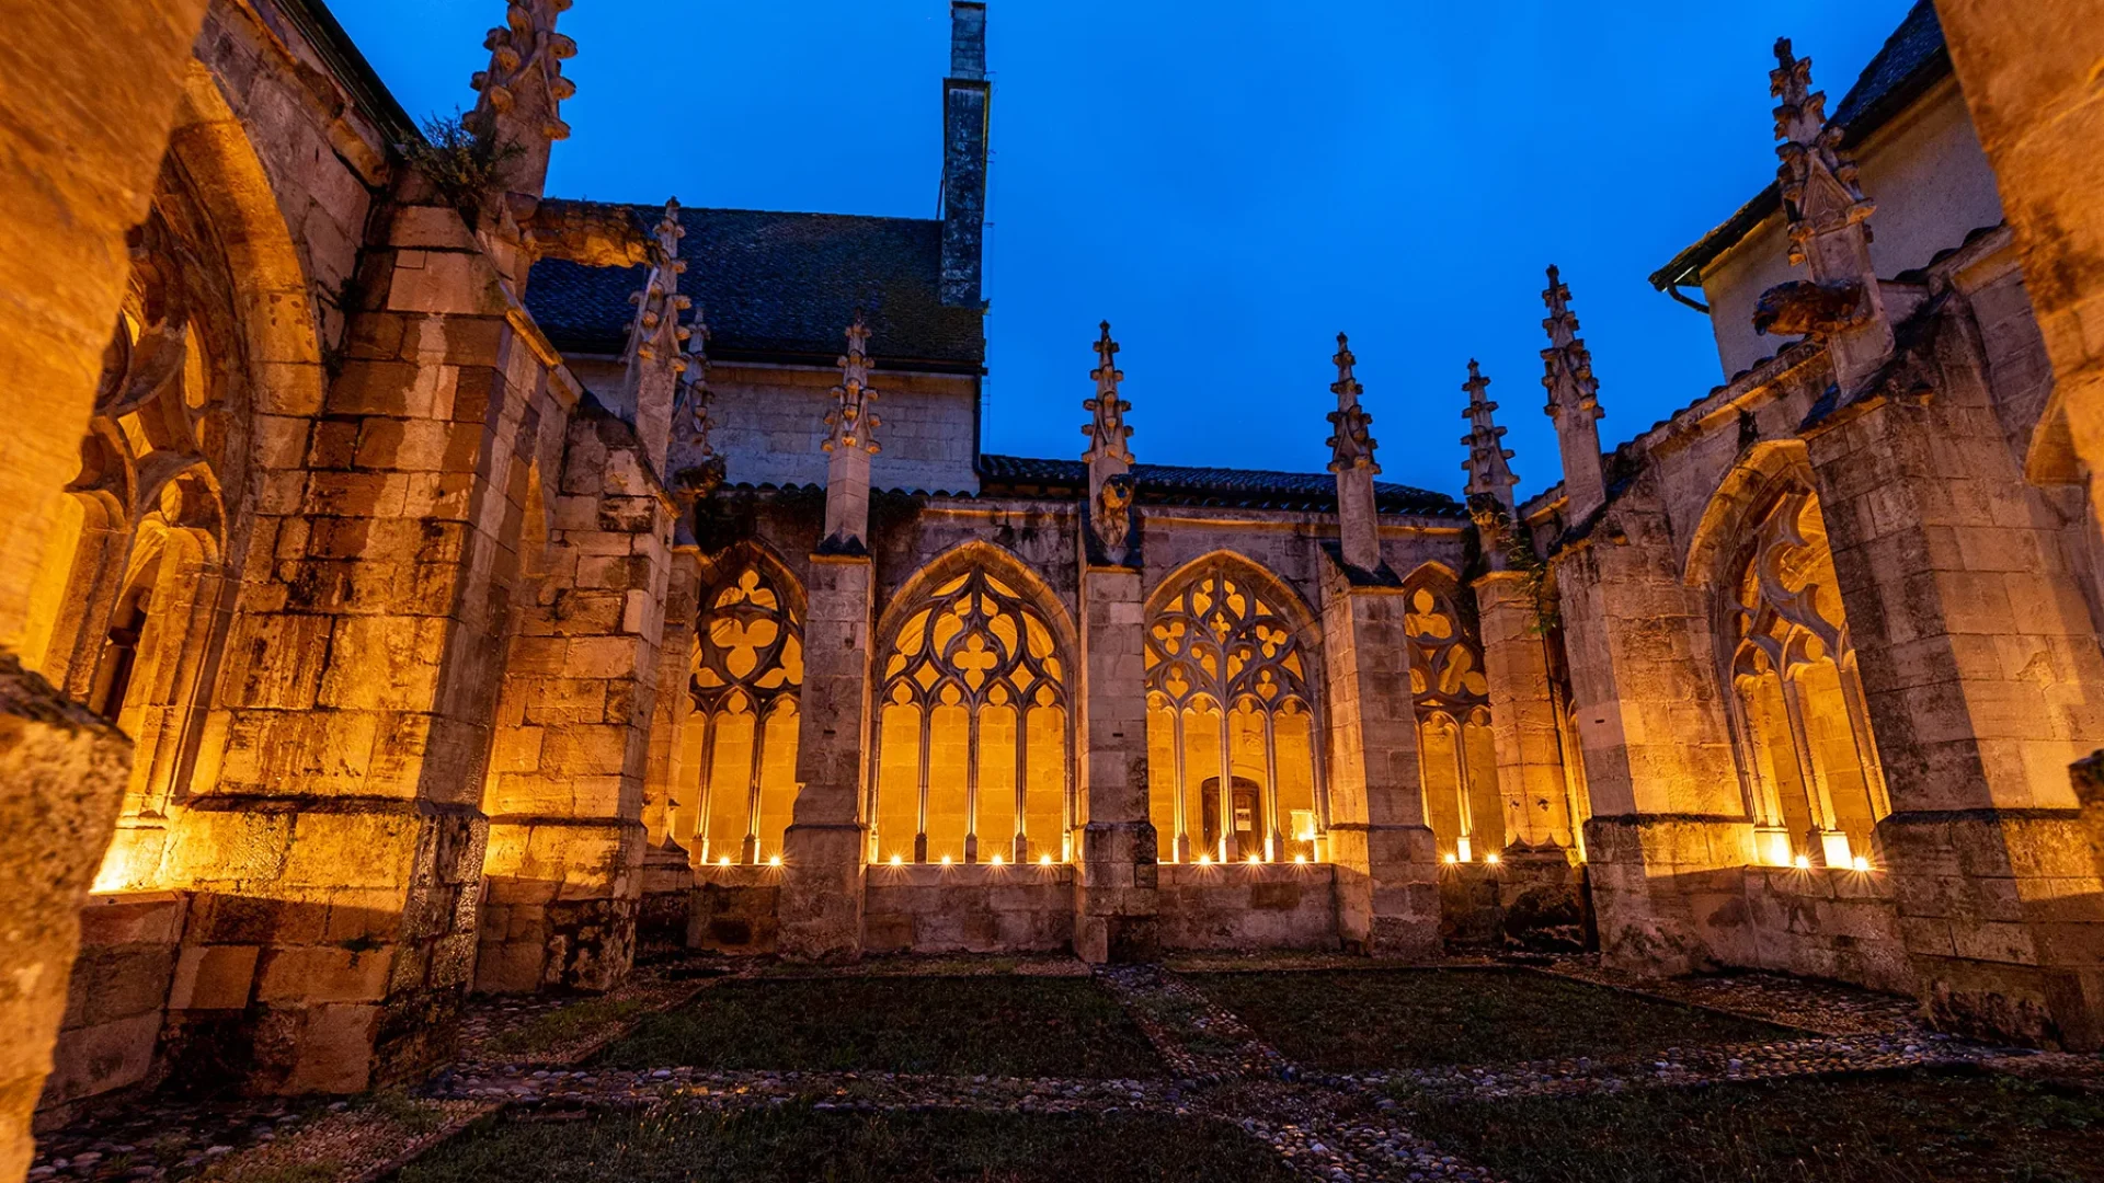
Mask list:
[[[1841,154],[1841,126],[1826,118],[1826,93],[1812,88],[1812,59],[1776,42],[1767,76],[1776,105],[1776,171],[1791,221],[1791,265],[1812,272],[1761,295],[1759,333],[1822,341],[1841,394],[1875,375],[1891,354],[1891,320],[1870,265],[1870,215],[1877,206],[1856,183],[1856,162]]]

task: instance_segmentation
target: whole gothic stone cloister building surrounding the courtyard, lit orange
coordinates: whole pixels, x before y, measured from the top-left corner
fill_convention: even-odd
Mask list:
[[[2030,17],[1946,2],[1946,44],[1923,0],[1830,112],[1780,44],[1776,185],[1654,278],[1732,377],[1603,455],[1551,267],[1563,480],[1515,503],[1466,358],[1464,488],[1378,480],[1342,337],[1328,474],[1142,463],[1109,324],[1086,448],[983,455],[985,4],[928,221],[545,194],[568,6],[507,4],[457,145],[318,0],[34,17],[0,1181],[38,1109],[368,1088],[640,935],[1424,958],[1534,918],[2104,1044],[2104,202],[2014,114]]]

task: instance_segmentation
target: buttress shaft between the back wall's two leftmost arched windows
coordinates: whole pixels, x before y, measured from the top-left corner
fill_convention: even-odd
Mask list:
[[[791,960],[844,962],[863,951],[873,583],[867,556],[810,560],[797,794],[776,911],[781,954]]]

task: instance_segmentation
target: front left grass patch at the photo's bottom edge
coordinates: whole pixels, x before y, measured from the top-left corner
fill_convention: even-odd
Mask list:
[[[1155,1116],[642,1114],[499,1122],[396,1183],[1288,1183],[1265,1143],[1222,1122]]]

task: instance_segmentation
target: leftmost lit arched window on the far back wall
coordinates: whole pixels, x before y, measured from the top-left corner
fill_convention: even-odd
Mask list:
[[[699,739],[696,857],[762,863],[783,848],[795,804],[804,629],[778,577],[732,568],[703,600],[688,730]]]

